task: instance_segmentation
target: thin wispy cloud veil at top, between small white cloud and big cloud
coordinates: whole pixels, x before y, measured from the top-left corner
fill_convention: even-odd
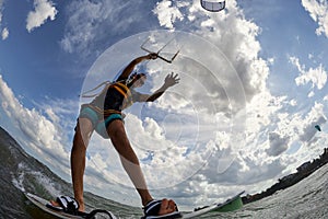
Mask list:
[[[151,4],[153,3],[143,0],[72,1],[67,8],[69,19],[60,42],[61,47],[68,53],[79,53],[81,56],[103,51],[105,46],[119,39],[117,36],[136,33],[136,26],[139,32],[142,31],[140,26],[148,26],[151,20],[144,11],[151,10]]]

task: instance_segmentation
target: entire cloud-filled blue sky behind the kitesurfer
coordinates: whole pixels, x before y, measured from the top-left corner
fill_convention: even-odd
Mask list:
[[[0,125],[70,181],[81,91],[143,55],[149,36],[174,38],[172,65],[138,69],[142,92],[171,71],[180,84],[126,112],[154,196],[199,206],[259,192],[327,147],[327,12],[324,0],[229,0],[219,13],[198,0],[0,0]],[[87,152],[85,187],[139,206],[110,142],[94,135]]]

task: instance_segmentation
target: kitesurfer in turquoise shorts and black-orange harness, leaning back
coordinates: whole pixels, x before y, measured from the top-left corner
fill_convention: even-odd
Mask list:
[[[85,153],[90,138],[95,130],[102,137],[109,138],[119,153],[121,164],[141,197],[145,218],[147,216],[167,216],[167,214],[174,217],[179,214],[173,200],[154,200],[151,196],[137,154],[129,142],[121,113],[122,110],[136,102],[155,101],[168,88],[179,82],[178,76],[172,72],[165,78],[164,84],[153,94],[143,94],[134,90],[142,87],[147,80],[144,73],[132,73],[134,67],[144,60],[156,58],[157,54],[149,54],[133,59],[121,71],[116,81],[107,84],[90,104],[81,106],[71,150],[71,174],[79,211],[85,210],[83,199]],[[56,205],[55,201],[52,203]]]

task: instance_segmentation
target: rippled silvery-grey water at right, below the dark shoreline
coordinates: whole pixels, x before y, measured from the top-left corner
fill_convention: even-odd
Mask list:
[[[294,186],[244,205],[241,210],[201,218],[328,219],[328,164]]]

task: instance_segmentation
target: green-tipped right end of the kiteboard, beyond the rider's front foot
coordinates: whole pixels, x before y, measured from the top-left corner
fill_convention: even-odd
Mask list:
[[[211,211],[232,211],[237,210],[243,207],[242,197],[241,195],[244,194],[245,191],[238,193],[237,195],[233,196],[232,198],[226,199],[224,203],[216,203],[212,204],[210,206],[204,206],[200,208],[196,208],[191,212],[183,214],[183,218],[197,218],[201,215],[211,212]]]

